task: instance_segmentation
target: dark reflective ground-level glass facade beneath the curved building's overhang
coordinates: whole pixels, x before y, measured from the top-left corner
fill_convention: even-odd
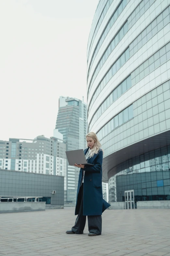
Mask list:
[[[125,201],[134,190],[135,201],[170,200],[170,145],[136,156],[114,167],[108,176],[110,201]]]

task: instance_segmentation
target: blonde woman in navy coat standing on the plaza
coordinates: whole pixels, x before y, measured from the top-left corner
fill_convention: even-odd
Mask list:
[[[88,219],[88,236],[101,235],[102,213],[110,206],[103,199],[102,192],[102,162],[103,151],[101,144],[94,132],[86,135],[87,148],[84,150],[86,160],[94,166],[75,164],[80,168],[75,215],[75,225],[67,234],[83,234]]]

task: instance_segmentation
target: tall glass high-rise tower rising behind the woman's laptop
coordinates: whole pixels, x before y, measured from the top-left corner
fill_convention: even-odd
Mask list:
[[[87,104],[76,98],[61,96],[56,129],[63,134],[67,151],[85,149],[87,133]],[[79,168],[67,165],[67,202],[76,202]]]

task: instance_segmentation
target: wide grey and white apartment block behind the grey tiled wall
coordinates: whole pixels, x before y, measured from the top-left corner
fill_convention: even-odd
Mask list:
[[[56,129],[50,139],[41,135],[33,140],[0,140],[0,169],[64,176],[66,190],[65,151],[63,135]]]

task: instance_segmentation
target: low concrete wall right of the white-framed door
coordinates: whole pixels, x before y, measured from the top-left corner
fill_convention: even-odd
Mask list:
[[[138,201],[137,209],[170,209],[170,201]]]

